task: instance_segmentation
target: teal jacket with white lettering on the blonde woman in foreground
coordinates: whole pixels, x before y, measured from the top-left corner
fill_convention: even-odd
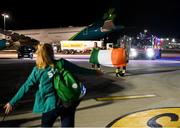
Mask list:
[[[57,60],[56,60],[57,61]],[[65,69],[76,74],[93,75],[95,70],[79,67],[65,59],[58,60]],[[16,95],[10,100],[12,106],[17,103],[32,86],[36,86],[35,102],[33,107],[34,113],[45,113],[51,111],[57,106],[57,95],[53,86],[54,69],[47,66],[45,69],[33,68],[31,74],[25,83],[18,90]]]

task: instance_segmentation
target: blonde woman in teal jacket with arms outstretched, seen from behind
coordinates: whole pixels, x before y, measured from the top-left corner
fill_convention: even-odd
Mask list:
[[[57,117],[61,117],[62,127],[74,127],[76,107],[79,102],[66,108],[59,100],[53,85],[53,75],[55,74],[55,63],[60,61],[65,69],[77,74],[96,74],[97,71],[79,67],[63,58],[55,60],[51,44],[39,44],[37,48],[36,66],[31,74],[20,87],[16,95],[5,104],[5,114],[13,110],[13,106],[29,91],[36,87],[34,113],[42,113],[42,127],[52,127]]]

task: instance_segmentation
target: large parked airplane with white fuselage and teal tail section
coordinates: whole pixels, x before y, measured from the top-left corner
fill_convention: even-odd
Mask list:
[[[18,33],[39,42],[54,42],[61,40],[99,40],[110,33],[120,32],[124,26],[115,25],[115,10],[109,9],[95,23],[88,26],[68,26],[60,28],[47,29],[29,29],[29,30],[12,30],[12,33]]]

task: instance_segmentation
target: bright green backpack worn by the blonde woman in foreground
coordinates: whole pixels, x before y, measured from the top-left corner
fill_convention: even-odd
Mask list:
[[[55,66],[57,71],[54,74],[54,87],[63,105],[68,107],[82,99],[86,88],[74,74],[62,67],[60,61]]]

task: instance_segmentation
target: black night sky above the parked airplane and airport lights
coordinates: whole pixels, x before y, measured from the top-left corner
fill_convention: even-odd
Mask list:
[[[179,0],[4,0],[0,4],[1,13],[10,15],[6,20],[10,30],[89,25],[110,8],[115,8],[115,24],[125,29],[180,38]]]

